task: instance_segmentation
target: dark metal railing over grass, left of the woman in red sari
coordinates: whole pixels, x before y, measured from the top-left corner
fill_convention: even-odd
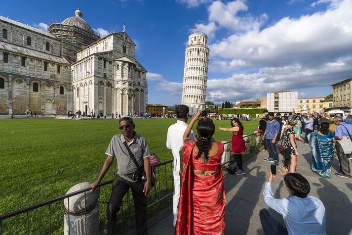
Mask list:
[[[169,160],[156,165],[156,187],[152,188],[148,194],[148,208],[167,198],[173,193],[173,160]],[[107,186],[112,188],[113,180],[99,184],[96,190],[99,190],[99,220],[102,224],[106,220],[105,213],[102,213],[103,208],[106,209],[108,199],[111,194],[111,189],[107,190]],[[98,189],[99,188],[99,189]],[[10,212],[0,216],[0,235],[2,234],[52,234],[52,233],[63,233],[63,223],[57,223],[63,221],[64,216],[68,216],[70,223],[70,197],[84,193],[84,205],[86,205],[86,192],[91,188],[84,188],[69,194],[65,194],[17,211]],[[116,226],[118,234],[125,234],[128,231],[126,229],[133,229],[131,227],[131,219],[133,220],[134,208],[132,200],[130,200],[131,191],[128,190],[123,198],[123,203],[119,211]],[[64,207],[64,200],[68,200],[68,210]],[[60,202],[60,204],[58,204]],[[45,208],[46,207],[46,212]],[[36,211],[39,211],[36,213]],[[82,214],[83,215],[83,214]],[[87,234],[86,218],[87,210],[84,206],[84,220],[85,220],[85,231],[83,234]],[[25,223],[23,223],[25,222]],[[127,226],[126,226],[127,224]],[[102,226],[100,226],[102,228]],[[70,234],[70,226],[68,226],[68,232]],[[99,229],[99,233],[102,230]]]

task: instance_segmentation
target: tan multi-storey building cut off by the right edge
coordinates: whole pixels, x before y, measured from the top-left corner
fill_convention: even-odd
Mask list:
[[[341,109],[346,114],[351,113],[352,78],[335,83],[332,86],[332,107],[329,110]]]

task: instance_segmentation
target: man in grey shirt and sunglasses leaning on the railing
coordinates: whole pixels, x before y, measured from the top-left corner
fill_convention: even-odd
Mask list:
[[[116,157],[118,169],[113,181],[113,189],[108,203],[108,223],[105,233],[114,233],[116,214],[122,206],[123,196],[128,192],[128,189],[131,188],[136,214],[137,234],[146,235],[148,231],[147,194],[151,188],[149,148],[146,139],[134,131],[135,125],[132,118],[123,117],[119,120],[119,124],[122,135],[115,135],[113,139],[111,139],[108,149],[105,152],[108,157],[105,160],[97,181],[91,184],[91,191],[100,184]],[[131,159],[124,142],[128,144],[139,166],[142,169],[144,167],[147,176],[147,182],[145,184],[143,184],[142,181],[132,179],[132,176],[138,172],[138,168]]]

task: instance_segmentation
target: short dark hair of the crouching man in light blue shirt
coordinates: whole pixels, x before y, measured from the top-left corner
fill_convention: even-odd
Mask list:
[[[283,178],[286,187],[290,189],[293,196],[306,198],[311,191],[308,180],[298,173],[288,173]]]

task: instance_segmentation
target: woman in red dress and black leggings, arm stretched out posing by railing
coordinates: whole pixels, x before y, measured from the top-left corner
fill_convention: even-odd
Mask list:
[[[235,175],[244,175],[246,173],[243,171],[242,153],[246,152],[246,144],[243,140],[243,125],[237,118],[234,118],[231,120],[231,126],[232,128],[221,128],[219,126],[219,130],[232,132],[232,152],[234,153],[234,158],[238,168],[235,171]]]

